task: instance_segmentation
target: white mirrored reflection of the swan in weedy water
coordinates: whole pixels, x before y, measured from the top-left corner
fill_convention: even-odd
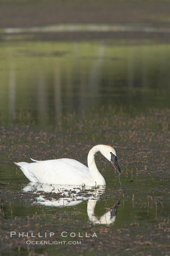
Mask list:
[[[25,192],[32,191],[37,194],[36,203],[46,206],[75,206],[80,204],[84,200],[88,200],[87,214],[90,221],[97,224],[110,225],[116,220],[117,209],[120,204],[120,200],[117,201],[109,211],[102,216],[97,217],[94,213],[94,209],[100,195],[104,193],[105,186],[97,186],[97,188],[80,187],[76,185],[49,185],[30,182],[24,189]],[[42,195],[41,192],[50,193]],[[41,194],[41,195],[40,195]],[[57,198],[55,199],[55,195]],[[46,197],[52,197],[47,199]],[[59,198],[58,198],[59,197]]]

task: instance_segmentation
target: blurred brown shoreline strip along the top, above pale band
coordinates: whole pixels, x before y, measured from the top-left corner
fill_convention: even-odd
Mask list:
[[[59,23],[169,26],[170,1],[1,1],[1,27]]]

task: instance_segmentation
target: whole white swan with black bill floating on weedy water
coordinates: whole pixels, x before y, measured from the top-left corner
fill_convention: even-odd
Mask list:
[[[121,172],[114,148],[107,145],[96,145],[88,153],[88,167],[80,162],[69,159],[54,159],[36,161],[36,163],[15,163],[32,182],[46,184],[67,184],[97,186],[106,185],[104,177],[100,174],[95,164],[94,155],[100,151],[108,161],[111,161],[115,169]]]

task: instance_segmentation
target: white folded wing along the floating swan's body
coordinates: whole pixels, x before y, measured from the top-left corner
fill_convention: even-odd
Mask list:
[[[88,167],[73,159],[47,160],[24,167],[39,183],[81,185],[92,180]]]

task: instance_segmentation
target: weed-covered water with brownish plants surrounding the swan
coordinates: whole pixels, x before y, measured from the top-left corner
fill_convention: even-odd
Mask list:
[[[100,115],[95,111],[81,116],[66,114],[57,125],[46,125],[43,129],[38,124],[35,126],[31,114],[16,114],[15,124],[1,124],[2,255],[7,249],[11,255],[37,256],[73,255],[72,250],[80,255],[112,255],[113,250],[115,255],[168,255],[170,112],[150,109],[147,113],[132,115],[112,107],[109,111],[104,108],[100,111]],[[3,123],[3,117],[1,120]],[[36,191],[36,188],[23,191],[28,180],[13,161],[29,162],[29,157],[37,160],[64,157],[87,164],[89,149],[99,143],[115,147],[122,169],[120,184],[114,168],[100,154],[96,155],[98,168],[108,183],[97,199],[94,216],[100,220],[100,216],[111,211],[120,200],[112,224],[95,224],[89,220],[87,204],[91,191],[85,187],[81,187],[77,195],[74,189],[55,191],[53,185],[50,192]],[[78,197],[82,201],[75,206],[58,208],[43,204],[43,201],[62,198],[75,202]],[[41,204],[38,198],[43,198]],[[10,237],[11,231],[16,234],[28,232],[29,235]],[[65,238],[61,236],[63,231],[68,235]],[[31,237],[30,232],[36,238]],[[45,232],[53,232],[54,236],[38,237]],[[76,236],[70,237],[71,232]],[[92,237],[94,232],[97,237]],[[79,237],[79,233],[80,236],[83,233],[83,237]],[[85,237],[85,233],[89,237]],[[27,240],[78,241],[81,245],[27,245]]]

